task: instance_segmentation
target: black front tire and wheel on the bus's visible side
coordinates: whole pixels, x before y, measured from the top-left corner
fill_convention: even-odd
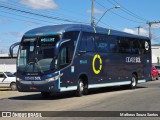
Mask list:
[[[81,97],[87,93],[88,93],[88,87],[86,88],[83,80],[79,79],[77,84],[76,96]]]

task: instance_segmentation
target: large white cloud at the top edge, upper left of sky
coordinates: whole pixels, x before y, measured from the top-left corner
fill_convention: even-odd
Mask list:
[[[20,3],[32,9],[47,10],[58,8],[58,5],[53,0],[21,0]]]

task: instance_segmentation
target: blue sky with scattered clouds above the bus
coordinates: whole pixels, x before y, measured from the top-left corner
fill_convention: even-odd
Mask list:
[[[82,23],[90,24],[91,0],[0,0],[0,54],[19,42],[33,28]],[[98,26],[148,36],[147,22],[160,21],[160,0],[95,0]],[[111,9],[121,6],[119,9]],[[69,22],[68,22],[69,21]],[[160,24],[152,25],[152,44],[160,44]]]

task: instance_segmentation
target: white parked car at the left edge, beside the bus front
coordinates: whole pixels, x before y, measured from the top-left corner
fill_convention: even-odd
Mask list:
[[[0,72],[0,87],[17,90],[16,76],[10,72]]]

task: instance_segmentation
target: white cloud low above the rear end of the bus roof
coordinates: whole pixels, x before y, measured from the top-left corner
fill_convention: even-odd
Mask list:
[[[123,31],[127,33],[138,35],[137,29],[124,28]],[[148,31],[144,28],[140,28],[140,35],[148,37]]]

